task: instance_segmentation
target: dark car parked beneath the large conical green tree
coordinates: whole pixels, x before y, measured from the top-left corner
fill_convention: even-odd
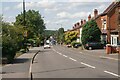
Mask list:
[[[88,50],[103,49],[104,44],[102,44],[101,42],[88,42],[84,47]]]

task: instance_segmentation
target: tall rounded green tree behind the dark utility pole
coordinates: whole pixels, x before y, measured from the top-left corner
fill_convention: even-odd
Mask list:
[[[15,25],[23,25],[23,13],[16,17]],[[39,11],[28,10],[25,12],[25,27],[28,30],[28,38],[33,38],[34,35],[42,34],[45,29],[44,21],[39,14]]]

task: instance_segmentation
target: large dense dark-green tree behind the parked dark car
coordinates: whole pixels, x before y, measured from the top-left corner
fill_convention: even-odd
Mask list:
[[[83,25],[82,29],[82,44],[87,42],[99,42],[101,40],[101,31],[97,26],[95,20],[91,20]]]

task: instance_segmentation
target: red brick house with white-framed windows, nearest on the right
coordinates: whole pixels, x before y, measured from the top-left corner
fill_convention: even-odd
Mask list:
[[[115,49],[119,43],[119,9],[120,2],[113,2],[102,14],[98,15],[97,10],[94,11],[94,14],[96,15],[94,16],[94,19],[102,32],[101,39],[111,44],[113,49]]]

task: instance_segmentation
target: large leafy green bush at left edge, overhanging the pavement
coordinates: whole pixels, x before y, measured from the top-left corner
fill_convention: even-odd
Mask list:
[[[23,27],[11,26],[7,23],[2,25],[2,57],[12,62],[16,52],[23,46]]]

